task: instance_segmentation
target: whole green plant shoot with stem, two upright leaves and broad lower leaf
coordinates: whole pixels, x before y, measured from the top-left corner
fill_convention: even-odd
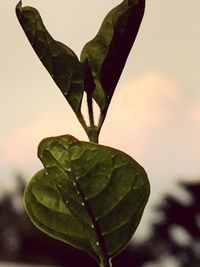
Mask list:
[[[44,169],[24,193],[31,221],[51,237],[91,255],[101,267],[127,245],[150,194],[147,174],[133,158],[98,144],[110,101],[137,36],[145,0],[124,0],[103,20],[80,60],[53,39],[39,12],[16,6],[17,18],[37,56],[75,112],[89,142],[71,135],[41,141]],[[81,113],[87,96],[89,125]],[[100,109],[94,122],[93,101]]]

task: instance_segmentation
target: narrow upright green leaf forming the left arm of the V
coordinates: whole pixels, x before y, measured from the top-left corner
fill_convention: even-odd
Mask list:
[[[74,52],[55,41],[35,8],[16,6],[19,22],[41,62],[75,112],[80,110],[84,91],[83,67]]]

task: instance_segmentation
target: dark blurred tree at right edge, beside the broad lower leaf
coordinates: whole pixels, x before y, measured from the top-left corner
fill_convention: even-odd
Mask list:
[[[152,225],[149,241],[158,248],[160,257],[171,255],[177,266],[197,267],[200,266],[200,182],[184,182],[179,186],[184,190],[185,200],[165,196],[156,208],[163,219]]]

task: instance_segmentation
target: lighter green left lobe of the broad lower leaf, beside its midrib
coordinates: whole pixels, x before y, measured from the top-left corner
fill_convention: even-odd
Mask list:
[[[59,174],[53,170],[47,174],[39,171],[28,184],[24,199],[27,212],[32,222],[48,235],[85,250],[96,258],[90,243],[85,238],[82,225],[72,215],[57,188]],[[61,182],[64,182],[62,175]],[[54,180],[57,181],[54,181]],[[66,181],[67,183],[67,181]]]

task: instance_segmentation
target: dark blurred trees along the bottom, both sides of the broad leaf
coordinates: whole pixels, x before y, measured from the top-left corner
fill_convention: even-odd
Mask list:
[[[98,266],[95,261],[66,244],[38,231],[22,205],[24,179],[0,202],[0,261],[60,266]],[[115,267],[157,267],[174,259],[177,267],[200,266],[200,182],[179,183],[182,198],[166,195],[155,207],[150,235],[133,241],[113,260]],[[160,219],[158,220],[159,215]]]

